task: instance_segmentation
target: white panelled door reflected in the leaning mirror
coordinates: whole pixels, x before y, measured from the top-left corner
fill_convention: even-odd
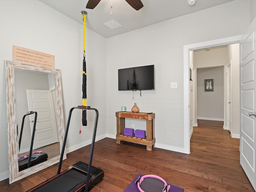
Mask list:
[[[27,90],[28,110],[37,112],[36,132],[33,149],[58,142],[58,132],[52,91]],[[34,115],[30,115],[31,132],[34,126]]]

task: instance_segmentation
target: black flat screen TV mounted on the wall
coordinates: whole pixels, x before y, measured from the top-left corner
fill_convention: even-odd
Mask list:
[[[154,90],[154,65],[118,69],[118,90]]]

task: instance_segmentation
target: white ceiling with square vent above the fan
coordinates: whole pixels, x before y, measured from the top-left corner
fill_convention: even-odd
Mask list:
[[[125,0],[101,0],[94,9],[86,8],[88,0],[40,1],[80,24],[83,24],[81,11],[88,12],[86,28],[109,38],[232,0],[196,0],[196,4],[193,6],[188,5],[188,0],[141,0],[144,7],[138,11]],[[110,16],[110,12],[112,12],[112,16]],[[110,20],[115,20],[122,27],[111,30],[103,25]]]

